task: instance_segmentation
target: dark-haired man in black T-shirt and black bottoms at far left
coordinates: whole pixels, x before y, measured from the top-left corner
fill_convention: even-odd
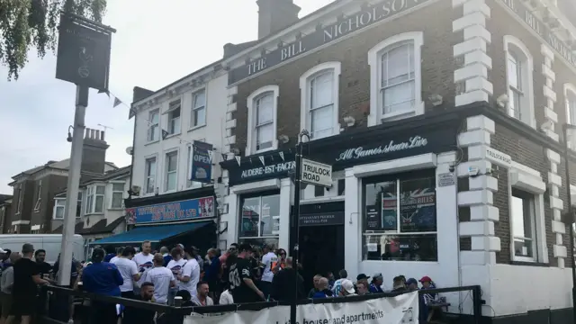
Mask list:
[[[23,257],[14,263],[13,303],[5,324],[11,324],[16,316],[22,317],[22,324],[30,324],[31,315],[36,310],[38,284],[48,284],[40,278],[38,265],[31,260],[34,247],[30,243],[24,244],[22,254]]]

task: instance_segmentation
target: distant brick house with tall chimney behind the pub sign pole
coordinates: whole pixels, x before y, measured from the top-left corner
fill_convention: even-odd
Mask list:
[[[103,131],[85,130],[81,166],[83,181],[118,168],[105,161],[107,148]],[[14,195],[9,217],[5,221],[5,233],[49,233],[54,229],[51,227],[54,196],[66,189],[68,166],[68,158],[48,161],[43,166],[36,166],[12,177],[14,181],[10,185],[14,188]],[[77,216],[80,216],[81,204],[78,204],[77,209]]]

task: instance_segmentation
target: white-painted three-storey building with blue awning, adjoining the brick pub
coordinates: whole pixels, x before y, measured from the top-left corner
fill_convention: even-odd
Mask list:
[[[149,240],[153,249],[218,247],[227,81],[226,71],[212,64],[157,91],[134,88],[130,195],[124,201],[129,230],[92,245],[139,247]]]

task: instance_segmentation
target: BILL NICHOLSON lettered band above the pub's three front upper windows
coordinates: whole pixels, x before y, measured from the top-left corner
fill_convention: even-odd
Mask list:
[[[316,31],[303,35],[291,43],[282,43],[277,49],[266,52],[260,58],[251,60],[246,65],[231,70],[228,83],[229,85],[235,84],[247,77],[281,64],[290,58],[301,56],[312,49],[336,41],[352,32],[364,29],[374,23],[379,23],[395,14],[401,14],[428,1],[386,0],[372,6],[365,6],[356,14],[342,17],[338,19],[337,23],[332,23],[328,26],[319,26]]]

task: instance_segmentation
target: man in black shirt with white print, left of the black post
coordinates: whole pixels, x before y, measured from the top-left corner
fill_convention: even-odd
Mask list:
[[[234,302],[265,302],[264,293],[254,284],[250,262],[252,247],[244,243],[238,247],[238,252],[238,257],[229,268],[229,291]]]

